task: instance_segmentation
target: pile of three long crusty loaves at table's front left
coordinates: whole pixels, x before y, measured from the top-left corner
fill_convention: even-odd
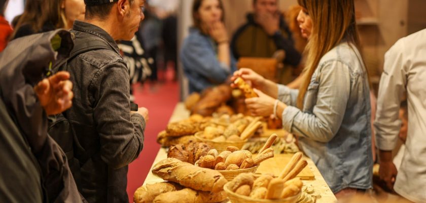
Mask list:
[[[226,199],[223,186],[228,181],[215,170],[167,158],[155,164],[152,173],[169,182],[141,186],[133,195],[135,203],[209,203]]]

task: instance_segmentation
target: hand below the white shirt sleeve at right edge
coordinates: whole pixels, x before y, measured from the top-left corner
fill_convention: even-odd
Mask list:
[[[390,191],[394,191],[395,180],[398,175],[397,167],[392,162],[392,151],[380,150],[379,178]]]

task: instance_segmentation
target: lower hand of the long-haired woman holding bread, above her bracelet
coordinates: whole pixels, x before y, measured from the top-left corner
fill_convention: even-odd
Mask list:
[[[245,99],[245,105],[248,111],[250,111],[253,116],[266,117],[273,114],[275,99],[258,89],[254,89],[254,91],[259,95],[259,97]]]

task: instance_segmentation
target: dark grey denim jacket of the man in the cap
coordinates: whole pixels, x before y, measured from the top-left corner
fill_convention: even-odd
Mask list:
[[[75,21],[74,43],[99,41],[110,49],[92,50],[68,61],[74,84],[73,107],[66,118],[77,136],[75,145],[89,156],[80,163],[79,189],[89,202],[128,202],[127,168],[143,148],[145,120],[130,115],[129,73],[113,38],[95,25]]]

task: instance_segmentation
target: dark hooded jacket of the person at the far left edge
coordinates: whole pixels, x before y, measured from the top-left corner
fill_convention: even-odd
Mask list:
[[[61,38],[54,50],[53,36]],[[33,86],[50,62],[73,48],[56,30],[12,41],[0,54],[0,199],[2,202],[82,202],[65,154],[47,134],[47,115]]]

